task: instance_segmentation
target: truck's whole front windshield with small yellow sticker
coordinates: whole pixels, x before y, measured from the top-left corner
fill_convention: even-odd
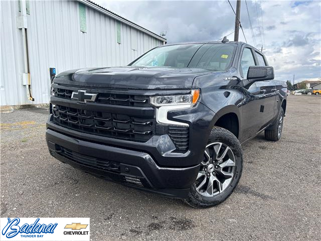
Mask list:
[[[155,48],[132,66],[202,68],[226,70],[232,60],[235,45],[231,44],[182,44]]]

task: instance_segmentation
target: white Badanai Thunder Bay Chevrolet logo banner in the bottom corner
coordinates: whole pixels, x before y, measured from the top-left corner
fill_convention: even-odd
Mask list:
[[[90,218],[1,218],[0,240],[90,240]]]

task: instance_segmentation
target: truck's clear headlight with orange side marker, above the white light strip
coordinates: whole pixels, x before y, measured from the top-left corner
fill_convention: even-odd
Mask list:
[[[200,90],[193,89],[191,94],[167,95],[150,97],[150,103],[154,106],[166,105],[194,105],[200,97]]]

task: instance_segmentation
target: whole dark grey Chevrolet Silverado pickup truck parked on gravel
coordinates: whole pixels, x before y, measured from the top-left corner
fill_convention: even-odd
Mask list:
[[[241,144],[278,141],[286,84],[242,42],[168,44],[53,79],[46,141],[63,163],[196,208],[227,199]]]

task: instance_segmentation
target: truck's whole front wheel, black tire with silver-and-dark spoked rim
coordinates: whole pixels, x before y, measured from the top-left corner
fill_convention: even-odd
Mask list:
[[[214,127],[198,176],[185,201],[196,208],[220,204],[237,186],[242,167],[243,153],[237,138],[226,129]]]

